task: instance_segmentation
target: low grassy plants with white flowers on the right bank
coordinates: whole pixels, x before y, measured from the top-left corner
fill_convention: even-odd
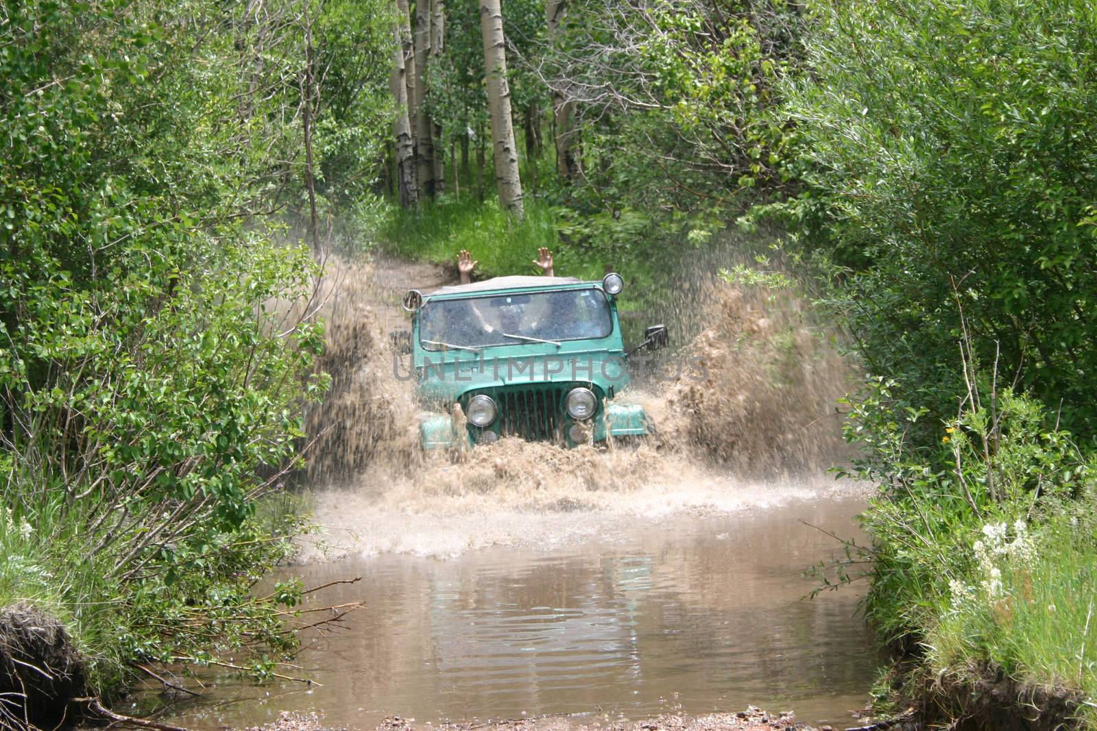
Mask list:
[[[918,648],[926,671],[1015,679],[1097,697],[1097,628],[1079,593],[1097,556],[1097,464],[1024,396],[972,392],[935,443],[911,439],[925,410],[871,378],[847,438],[866,448],[849,473],[878,487],[862,516],[872,538],[867,614],[882,637]],[[991,398],[993,396],[993,399]],[[848,573],[847,578],[851,578]],[[1083,579],[1086,580],[1086,579]]]

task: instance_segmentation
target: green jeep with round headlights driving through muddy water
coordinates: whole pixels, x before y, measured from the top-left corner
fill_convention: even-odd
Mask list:
[[[411,330],[393,333],[411,355],[409,372],[428,409],[419,423],[425,449],[490,444],[504,436],[566,446],[652,430],[644,409],[623,403],[629,355],[663,347],[654,325],[626,353],[615,298],[623,279],[505,276],[412,289],[404,308]]]

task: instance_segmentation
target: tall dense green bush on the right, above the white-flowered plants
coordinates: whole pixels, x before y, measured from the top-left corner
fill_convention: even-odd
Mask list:
[[[954,343],[1088,439],[1097,18],[1085,1],[818,3],[790,83],[792,249],[897,395],[954,412]]]

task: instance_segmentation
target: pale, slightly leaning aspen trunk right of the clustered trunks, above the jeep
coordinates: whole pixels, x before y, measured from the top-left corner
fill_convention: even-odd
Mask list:
[[[510,87],[507,83],[507,48],[502,34],[500,0],[480,0],[480,32],[484,35],[484,73],[487,106],[491,116],[491,152],[499,203],[516,218],[525,214],[522,181],[518,174],[518,150],[510,118]]]

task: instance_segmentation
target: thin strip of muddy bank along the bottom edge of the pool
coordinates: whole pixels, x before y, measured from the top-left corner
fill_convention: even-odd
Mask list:
[[[828,731],[830,727],[799,723],[791,711],[769,713],[748,706],[735,713],[685,716],[665,713],[643,721],[593,721],[589,717],[567,715],[534,718],[466,721],[462,723],[417,724],[414,718],[386,718],[376,731]],[[278,721],[246,731],[333,731],[316,713],[282,713]]]

